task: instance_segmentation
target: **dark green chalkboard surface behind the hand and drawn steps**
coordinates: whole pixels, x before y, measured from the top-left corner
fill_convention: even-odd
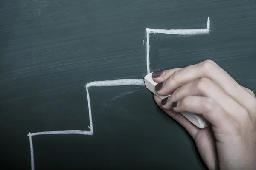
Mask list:
[[[28,132],[90,130],[84,85],[142,79],[146,28],[206,28],[151,36],[151,71],[213,59],[256,90],[255,0],[1,0],[1,167],[30,169]],[[94,135],[34,136],[35,170],[204,169],[186,131],[145,87],[90,88]]]

